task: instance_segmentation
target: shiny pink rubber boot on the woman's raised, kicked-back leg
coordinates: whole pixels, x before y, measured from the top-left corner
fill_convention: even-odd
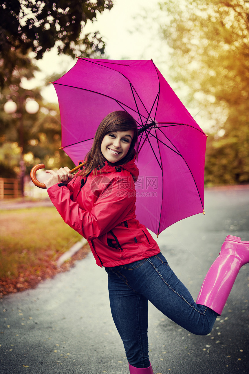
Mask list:
[[[249,263],[249,242],[228,235],[202,283],[196,304],[221,315],[240,268]]]

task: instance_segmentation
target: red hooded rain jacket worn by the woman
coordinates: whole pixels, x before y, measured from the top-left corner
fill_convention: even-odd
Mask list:
[[[48,194],[65,223],[87,239],[97,265],[113,267],[156,255],[160,249],[136,220],[138,169],[133,160],[122,166],[101,165],[101,174],[74,177],[55,184]]]

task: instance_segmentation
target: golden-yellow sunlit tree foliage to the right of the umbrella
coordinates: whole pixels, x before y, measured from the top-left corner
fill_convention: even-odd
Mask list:
[[[172,77],[192,89],[214,123],[206,183],[248,183],[249,1],[168,0],[161,10]]]

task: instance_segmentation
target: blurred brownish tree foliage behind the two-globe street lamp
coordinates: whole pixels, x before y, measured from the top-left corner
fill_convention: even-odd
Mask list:
[[[32,166],[38,163],[44,163],[47,169],[65,165],[69,168],[74,166],[65,152],[59,149],[61,146],[59,106],[54,103],[45,105],[40,89],[34,89],[31,93],[20,85],[21,79],[28,77],[29,74],[29,69],[23,69],[19,75],[16,72],[12,85],[4,88],[0,94],[1,177],[11,178],[20,175],[22,154],[26,174],[29,174]],[[36,114],[28,114],[25,110],[25,102],[30,95],[34,96],[40,105],[40,110]],[[4,113],[3,105],[7,99],[17,102],[16,113]]]

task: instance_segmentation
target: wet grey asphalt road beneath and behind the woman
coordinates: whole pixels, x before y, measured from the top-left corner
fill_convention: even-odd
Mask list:
[[[156,239],[194,298],[225,236],[249,241],[249,186],[206,190],[205,212]],[[249,264],[204,337],[190,334],[149,304],[154,373],[248,373],[248,299]],[[0,373],[128,374],[109,309],[107,275],[91,254],[69,272],[0,301]]]

